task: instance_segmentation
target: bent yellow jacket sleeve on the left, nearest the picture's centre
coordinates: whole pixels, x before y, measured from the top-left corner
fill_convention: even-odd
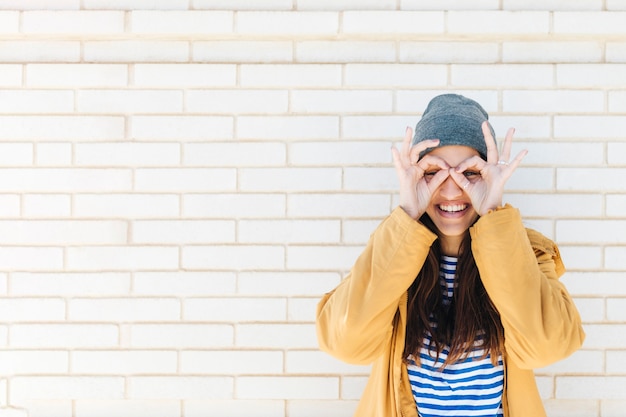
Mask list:
[[[320,348],[369,364],[392,333],[398,303],[415,280],[436,235],[396,208],[372,234],[350,273],[317,305]]]

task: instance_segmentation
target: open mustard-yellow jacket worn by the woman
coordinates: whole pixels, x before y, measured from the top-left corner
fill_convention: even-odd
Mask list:
[[[554,242],[525,229],[517,209],[499,208],[470,228],[485,289],[504,327],[506,417],[545,417],[532,369],[578,349],[585,334]],[[373,364],[356,417],[417,417],[404,349],[407,289],[436,235],[396,208],[370,237],[350,274],[317,306],[320,347]]]

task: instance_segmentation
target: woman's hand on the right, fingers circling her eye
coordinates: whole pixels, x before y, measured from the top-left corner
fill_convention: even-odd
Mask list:
[[[469,195],[474,210],[480,216],[502,205],[504,185],[528,153],[523,150],[509,161],[515,130],[511,128],[506,133],[502,155],[498,155],[496,140],[487,122],[483,123],[482,129],[487,145],[487,161],[476,155],[461,162],[456,168],[450,168],[450,176]]]

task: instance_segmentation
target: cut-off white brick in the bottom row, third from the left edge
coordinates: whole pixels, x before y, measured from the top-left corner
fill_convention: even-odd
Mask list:
[[[246,2],[246,4],[250,4]],[[289,3],[291,4],[291,2]],[[215,413],[221,417],[284,417],[284,400],[185,400],[185,417],[206,417]]]

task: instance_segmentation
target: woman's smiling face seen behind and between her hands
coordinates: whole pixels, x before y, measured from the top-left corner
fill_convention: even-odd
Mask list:
[[[443,159],[450,167],[456,168],[461,162],[467,158],[478,155],[475,149],[468,146],[442,146],[435,148],[429,155]],[[440,169],[433,167],[433,171]],[[426,180],[433,175],[433,171],[426,171]],[[469,181],[475,181],[480,178],[480,173],[467,170],[465,176]],[[457,247],[453,242],[458,240],[460,244],[465,232],[474,224],[478,218],[478,214],[472,207],[471,201],[467,193],[457,185],[452,177],[448,177],[443,184],[437,188],[432,195],[430,204],[426,209],[426,213],[430,216],[437,229],[440,232],[440,239],[444,246],[444,240],[451,240],[452,247]]]

